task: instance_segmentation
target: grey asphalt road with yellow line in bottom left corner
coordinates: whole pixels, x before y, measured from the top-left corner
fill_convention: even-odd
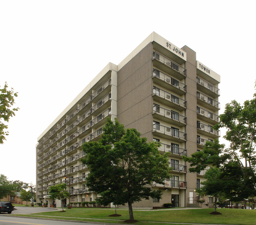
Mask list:
[[[0,225],[18,225],[18,224],[29,224],[29,225],[95,225],[102,223],[90,223],[90,222],[71,222],[71,221],[56,221],[56,220],[46,220],[46,219],[34,219],[34,218],[23,218],[23,217],[12,217],[1,214],[0,216]],[[110,224],[110,223],[105,223]]]

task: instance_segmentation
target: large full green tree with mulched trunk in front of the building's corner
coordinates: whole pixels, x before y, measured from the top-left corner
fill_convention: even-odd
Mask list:
[[[84,143],[85,158],[90,168],[86,186],[101,197],[100,205],[128,203],[130,220],[134,221],[132,203],[142,198],[161,198],[161,191],[151,183],[164,184],[170,178],[167,155],[161,155],[156,142],[147,143],[136,129],[125,129],[117,119],[107,118],[99,142]]]

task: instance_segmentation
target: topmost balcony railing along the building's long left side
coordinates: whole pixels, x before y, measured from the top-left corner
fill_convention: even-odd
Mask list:
[[[95,90],[92,95],[90,95],[87,99],[84,100],[72,113],[69,114],[67,118],[65,118],[57,127],[54,128],[53,131],[49,133],[38,145],[37,149],[42,146],[50,137],[52,137],[65,123],[67,123],[74,115],[76,115],[80,110],[82,110],[88,103],[91,102],[97,95],[99,95],[104,89],[111,85],[111,79],[107,79],[99,88]]]

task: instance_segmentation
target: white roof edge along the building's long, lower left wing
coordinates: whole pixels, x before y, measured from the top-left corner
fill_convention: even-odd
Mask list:
[[[93,78],[93,80],[82,90],[75,98],[74,100],[59,114],[59,116],[44,130],[43,133],[39,135],[37,138],[37,141],[39,141],[46,132],[49,131],[50,128],[54,126],[79,100],[82,98],[99,80],[102,78],[108,71],[114,70],[117,71],[117,65],[113,63],[108,63],[103,70],[100,71],[100,73]],[[36,144],[36,146],[38,143]]]

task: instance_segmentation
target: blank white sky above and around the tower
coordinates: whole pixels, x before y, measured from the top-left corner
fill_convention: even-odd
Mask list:
[[[0,0],[0,85],[7,81],[18,92],[20,108],[0,145],[0,173],[35,183],[38,136],[107,63],[119,64],[153,31],[192,48],[220,74],[220,113],[233,99],[252,99],[255,6],[246,0]]]

